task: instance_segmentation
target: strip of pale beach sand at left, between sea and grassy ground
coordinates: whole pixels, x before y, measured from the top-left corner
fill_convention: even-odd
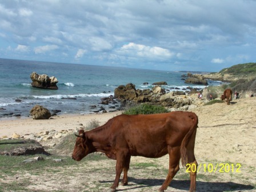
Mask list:
[[[97,119],[100,125],[109,119],[121,114],[122,111],[101,113],[101,114],[63,114],[51,117],[50,119],[35,120],[31,116],[26,118],[1,119],[0,138],[18,135],[37,134],[41,131],[76,131],[81,126],[86,126],[92,119]]]

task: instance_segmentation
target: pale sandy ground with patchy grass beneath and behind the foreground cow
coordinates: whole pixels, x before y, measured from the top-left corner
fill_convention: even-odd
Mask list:
[[[256,97],[233,100],[230,105],[215,103],[193,110],[199,118],[195,143],[195,157],[200,167],[197,191],[256,190],[255,106]],[[81,119],[76,119],[76,125],[80,122]],[[129,185],[119,186],[117,191],[157,191],[166,178],[168,158],[167,155],[158,159],[132,157]],[[60,166],[58,173],[43,172],[40,177],[30,173],[19,175],[20,179],[32,181],[33,184],[27,187],[30,191],[106,191],[114,177],[115,161],[110,159],[81,162],[69,169]],[[181,166],[166,191],[188,191],[189,183],[189,174]]]

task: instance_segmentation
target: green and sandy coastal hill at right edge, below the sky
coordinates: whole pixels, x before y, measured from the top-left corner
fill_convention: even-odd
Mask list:
[[[244,63],[222,69],[218,73],[204,74],[206,79],[233,82],[238,79],[255,79],[256,63]]]

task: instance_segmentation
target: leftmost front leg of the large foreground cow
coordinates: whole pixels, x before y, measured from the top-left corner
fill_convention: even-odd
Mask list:
[[[125,155],[117,154],[117,163],[115,165],[115,181],[113,185],[110,187],[110,189],[108,190],[108,192],[114,192],[115,189],[117,189],[120,175],[122,173],[124,165],[125,165]]]

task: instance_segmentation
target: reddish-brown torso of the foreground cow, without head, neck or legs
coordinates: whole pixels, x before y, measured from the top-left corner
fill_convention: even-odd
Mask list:
[[[126,147],[131,155],[161,157],[167,145],[180,146],[191,127],[197,126],[197,115],[186,111],[152,115],[119,115],[111,126],[111,142]]]

